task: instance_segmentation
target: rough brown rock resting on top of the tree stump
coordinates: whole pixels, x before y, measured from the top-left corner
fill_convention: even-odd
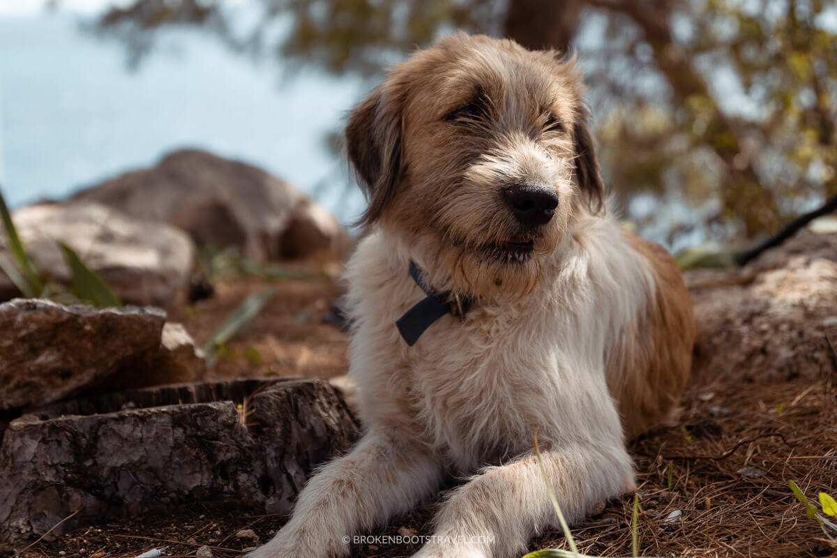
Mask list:
[[[154,308],[97,309],[41,299],[0,304],[0,434],[3,411],[10,409],[94,390],[203,379],[203,351],[182,325],[165,320]]]

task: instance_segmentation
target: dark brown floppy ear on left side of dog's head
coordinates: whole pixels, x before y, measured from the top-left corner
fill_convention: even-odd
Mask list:
[[[377,221],[395,197],[402,170],[400,113],[382,85],[349,117],[346,126],[349,161],[357,170],[357,182],[369,200],[369,207],[357,224]]]

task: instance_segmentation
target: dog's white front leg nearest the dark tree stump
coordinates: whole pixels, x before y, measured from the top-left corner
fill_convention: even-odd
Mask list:
[[[367,433],[300,492],[293,517],[248,558],[329,558],[347,554],[358,530],[413,507],[439,485],[441,468],[419,443],[396,432]]]

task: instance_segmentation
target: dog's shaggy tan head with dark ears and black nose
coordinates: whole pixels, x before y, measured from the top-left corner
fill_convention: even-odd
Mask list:
[[[454,291],[530,292],[574,212],[603,210],[579,72],[465,34],[395,66],[352,113],[349,158],[379,223]]]

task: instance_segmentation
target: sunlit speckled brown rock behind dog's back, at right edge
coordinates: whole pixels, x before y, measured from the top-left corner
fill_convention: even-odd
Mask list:
[[[803,234],[733,274],[687,272],[698,326],[693,374],[810,379],[833,359],[837,233]]]

